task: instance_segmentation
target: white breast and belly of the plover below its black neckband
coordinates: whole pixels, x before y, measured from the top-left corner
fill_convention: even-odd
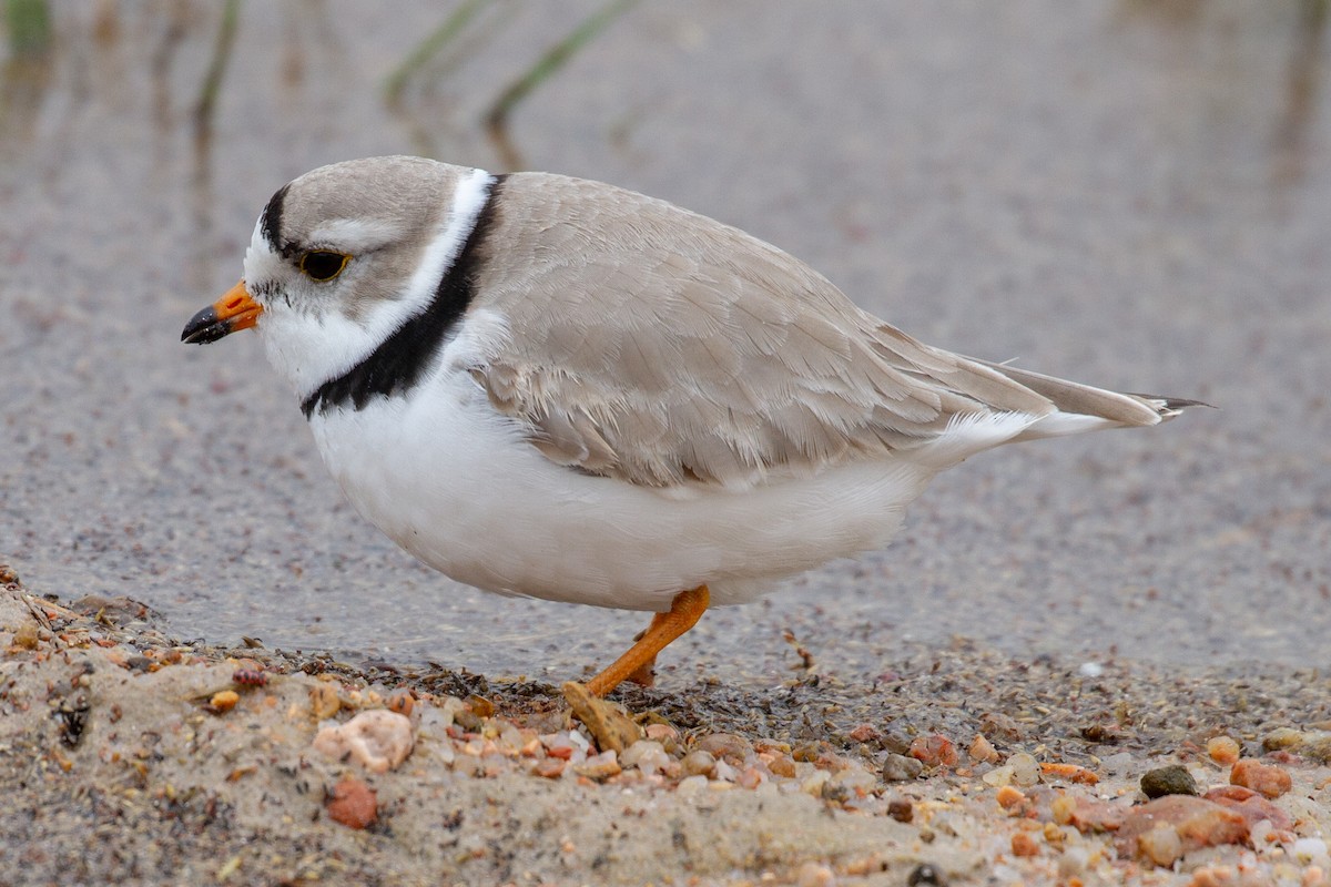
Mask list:
[[[715,604],[737,604],[881,547],[933,473],[864,463],[667,495],[551,463],[462,372],[310,427],[361,515],[430,567],[491,592],[622,609],[664,610],[703,582]]]

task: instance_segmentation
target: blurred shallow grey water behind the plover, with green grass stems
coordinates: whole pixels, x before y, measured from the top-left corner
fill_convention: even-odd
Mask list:
[[[897,543],[713,610],[672,681],[910,645],[1328,664],[1324,0],[3,0],[0,561],[176,632],[562,677],[646,618],[417,565],[254,336],[180,330],[284,182],[414,153],[737,225],[906,331],[1199,398],[941,477]],[[913,648],[912,648],[913,649]]]

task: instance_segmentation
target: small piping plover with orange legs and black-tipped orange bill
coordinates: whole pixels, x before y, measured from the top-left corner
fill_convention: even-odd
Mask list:
[[[347,499],[422,561],[656,612],[600,696],[650,678],[709,604],[884,545],[973,453],[1195,403],[930,347],[651,197],[417,157],[273,195],[244,279],[182,339],[248,327]]]

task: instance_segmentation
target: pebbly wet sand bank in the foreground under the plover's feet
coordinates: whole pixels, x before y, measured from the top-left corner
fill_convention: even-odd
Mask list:
[[[4,884],[1331,883],[1316,672],[958,645],[844,688],[804,650],[767,693],[624,690],[616,754],[554,686],[181,644],[0,572]],[[315,743],[365,711],[401,763]],[[1166,765],[1229,801],[1146,806]]]

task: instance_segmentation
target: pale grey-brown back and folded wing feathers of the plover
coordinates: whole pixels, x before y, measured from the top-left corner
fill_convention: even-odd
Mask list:
[[[797,259],[640,194],[510,176],[471,371],[547,457],[636,484],[752,484],[920,447],[958,414],[1053,410],[861,311]],[[626,261],[624,257],[631,257]]]

